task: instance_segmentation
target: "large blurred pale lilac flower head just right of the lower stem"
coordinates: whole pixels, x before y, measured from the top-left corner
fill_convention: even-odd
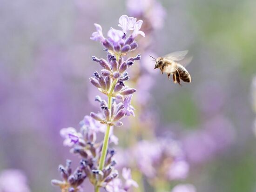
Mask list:
[[[185,179],[189,172],[189,164],[180,144],[175,140],[144,140],[134,148],[134,153],[138,168],[148,178],[179,180]]]

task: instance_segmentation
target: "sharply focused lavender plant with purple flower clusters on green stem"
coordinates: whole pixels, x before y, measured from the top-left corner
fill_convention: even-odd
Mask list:
[[[59,166],[62,180],[52,180],[53,185],[61,188],[61,192],[81,192],[82,183],[85,179],[94,185],[94,191],[99,192],[101,187],[108,192],[126,192],[131,186],[137,187],[137,183],[131,178],[130,169],[123,168],[122,177],[118,178],[115,169],[115,150],[108,147],[113,142],[117,144],[117,138],[113,134],[112,127],[122,126],[121,119],[135,115],[134,107],[131,106],[134,88],[126,86],[129,80],[127,69],[134,65],[136,60],[141,60],[141,54],[135,57],[124,57],[138,47],[135,38],[140,34],[142,20],[122,15],[118,26],[122,30],[110,28],[108,38],[102,33],[99,24],[94,24],[96,32],[91,40],[100,41],[107,51],[107,60],[92,57],[102,67],[101,72],[95,71],[89,79],[91,84],[107,96],[108,100],[100,96],[95,97],[99,102],[100,112],[90,113],[80,122],[80,131],[68,127],[61,130],[64,145],[71,147],[71,152],[81,157],[80,165],[72,172],[71,161],[67,160],[66,166]],[[131,33],[129,33],[131,31]],[[97,135],[104,133],[104,139],[97,139]]]

